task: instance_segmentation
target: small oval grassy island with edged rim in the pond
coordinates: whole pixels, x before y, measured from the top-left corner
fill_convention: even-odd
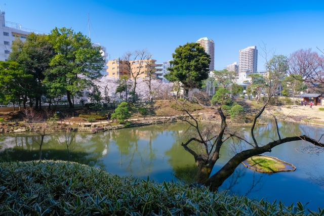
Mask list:
[[[257,172],[272,174],[274,172],[295,171],[296,167],[275,157],[257,155],[243,161],[242,164]]]

